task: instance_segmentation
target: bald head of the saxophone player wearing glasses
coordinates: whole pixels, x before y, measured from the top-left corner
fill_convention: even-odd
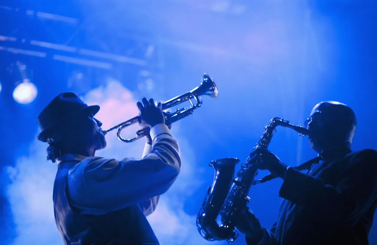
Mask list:
[[[310,113],[308,129],[314,150],[344,142],[352,143],[357,121],[354,111],[346,104],[322,101]]]

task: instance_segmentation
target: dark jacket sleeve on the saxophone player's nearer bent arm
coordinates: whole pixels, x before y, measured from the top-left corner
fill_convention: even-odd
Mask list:
[[[336,186],[289,168],[279,194],[315,219],[353,227],[377,198],[377,152],[363,150],[345,162],[344,168]]]

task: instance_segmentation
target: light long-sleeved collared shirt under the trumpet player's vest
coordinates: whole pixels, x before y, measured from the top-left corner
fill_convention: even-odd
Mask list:
[[[97,156],[67,154],[58,164],[80,161],[68,172],[71,204],[83,214],[101,215],[139,204],[151,214],[161,194],[169,190],[181,168],[180,151],[165,124],[150,130],[152,145],[146,144],[141,159],[117,161]]]

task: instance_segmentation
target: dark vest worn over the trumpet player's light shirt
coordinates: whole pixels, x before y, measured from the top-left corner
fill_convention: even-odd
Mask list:
[[[54,183],[55,221],[64,244],[158,245],[158,240],[139,205],[103,215],[81,214],[67,195],[67,173],[77,164],[58,165]]]

